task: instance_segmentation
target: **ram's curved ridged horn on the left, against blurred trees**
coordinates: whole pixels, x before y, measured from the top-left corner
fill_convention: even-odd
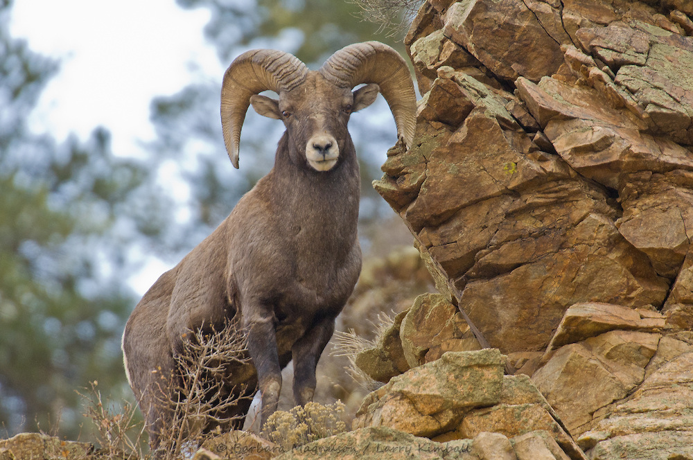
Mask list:
[[[306,64],[283,51],[246,51],[231,62],[221,87],[221,125],[234,168],[238,168],[240,128],[250,97],[267,89],[290,91],[306,80],[307,73]]]

